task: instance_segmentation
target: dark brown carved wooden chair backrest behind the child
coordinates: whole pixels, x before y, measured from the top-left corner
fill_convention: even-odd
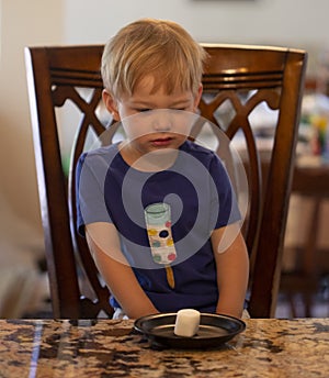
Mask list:
[[[204,96],[200,111],[224,130],[229,140],[242,135],[249,185],[243,234],[252,262],[249,311],[254,318],[270,318],[274,315],[279,290],[307,55],[303,51],[279,47],[204,46],[211,58],[203,77]],[[25,48],[55,318],[97,318],[101,311],[111,316],[113,311],[109,304],[109,290],[99,276],[87,243],[77,234],[75,209],[78,157],[86,149],[88,138],[101,135],[111,122],[104,120],[101,102],[102,51],[103,45]],[[265,122],[266,118],[262,113],[254,116],[256,109],[263,104],[275,114],[274,124],[266,129],[273,133],[273,145],[265,164],[261,164],[256,137],[263,132],[258,129],[259,120]],[[65,105],[71,107],[75,116],[67,119],[61,113]],[[252,120],[258,120],[254,121],[257,127],[253,127]],[[193,131],[194,137],[197,138],[201,129],[202,125]],[[113,130],[110,138],[115,132]],[[69,169],[64,169],[65,135],[75,135],[71,137]],[[265,167],[265,177],[262,167]]]

